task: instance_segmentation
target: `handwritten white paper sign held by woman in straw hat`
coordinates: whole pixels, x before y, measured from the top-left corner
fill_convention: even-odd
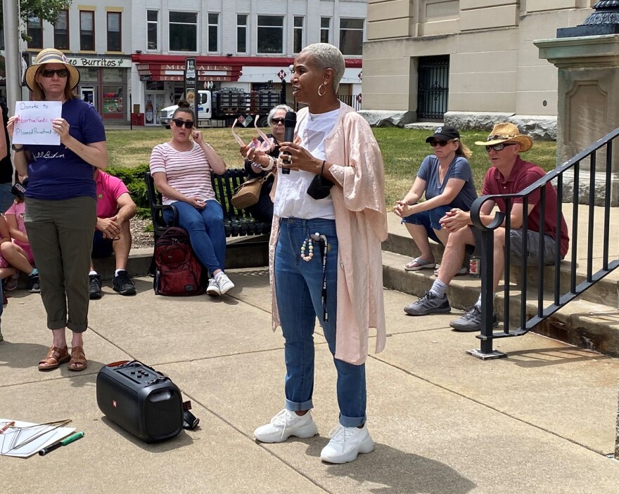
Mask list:
[[[60,136],[51,128],[51,121],[60,118],[63,104],[60,101],[17,101],[13,144],[59,145]]]

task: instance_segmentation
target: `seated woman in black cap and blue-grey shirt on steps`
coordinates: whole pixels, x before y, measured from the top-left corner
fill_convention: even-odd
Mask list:
[[[406,271],[436,267],[429,239],[446,245],[449,236],[449,232],[440,227],[439,220],[454,207],[470,211],[477,198],[473,172],[468,164],[471,150],[460,141],[458,130],[452,126],[438,127],[426,138],[426,143],[432,146],[434,155],[426,156],[421,162],[411,190],[393,207],[420,253],[404,266]],[[426,200],[419,202],[422,195]]]

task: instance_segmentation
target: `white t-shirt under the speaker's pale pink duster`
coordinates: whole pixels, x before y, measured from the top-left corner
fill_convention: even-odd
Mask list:
[[[326,159],[324,139],[331,134],[333,126],[336,125],[339,112],[340,109],[338,108],[331,112],[315,115],[309,113],[307,118],[297,126],[296,131],[301,140],[300,145],[319,160]],[[316,175],[310,171],[291,170],[288,175],[284,175],[280,171],[275,190],[274,214],[280,218],[335,219],[331,195],[321,200],[315,200],[307,194],[307,188],[314,176]]]

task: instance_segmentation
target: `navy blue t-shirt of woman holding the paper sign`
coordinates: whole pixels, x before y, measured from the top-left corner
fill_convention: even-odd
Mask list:
[[[69,122],[69,134],[84,144],[106,140],[101,116],[93,105],[73,98],[63,104],[62,117]],[[94,168],[65,145],[26,146],[30,151],[26,197],[63,200],[92,197],[96,200]]]

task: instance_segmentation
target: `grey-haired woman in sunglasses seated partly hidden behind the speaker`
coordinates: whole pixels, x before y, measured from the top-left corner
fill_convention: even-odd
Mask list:
[[[267,117],[267,123],[271,127],[271,133],[267,134],[267,137],[273,138],[274,148],[269,151],[268,154],[260,154],[255,151],[254,148],[250,148],[246,155],[243,155],[243,148],[241,148],[241,156],[245,159],[245,171],[247,171],[248,178],[264,177],[271,174],[269,178],[262,184],[260,188],[260,199],[253,206],[245,208],[255,219],[262,221],[263,223],[271,223],[273,220],[273,201],[271,200],[271,190],[273,188],[273,181],[275,180],[272,171],[276,171],[272,165],[277,157],[279,157],[279,143],[283,142],[284,126],[283,118],[286,117],[286,112],[294,111],[288,105],[277,105],[269,112]],[[258,137],[258,141],[262,141],[261,137]]]

